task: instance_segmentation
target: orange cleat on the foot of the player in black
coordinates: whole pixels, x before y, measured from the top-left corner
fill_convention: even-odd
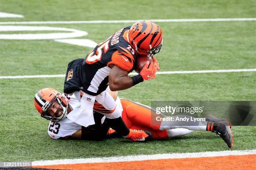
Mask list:
[[[126,137],[133,142],[136,141],[147,141],[152,138],[152,133],[147,130],[133,130],[130,129],[130,133]]]

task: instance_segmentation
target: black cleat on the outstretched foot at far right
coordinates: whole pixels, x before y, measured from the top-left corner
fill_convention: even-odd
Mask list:
[[[230,130],[230,123],[228,121],[222,122],[208,122],[207,130],[220,135],[220,137],[225,141],[229,148],[233,146],[233,133]]]

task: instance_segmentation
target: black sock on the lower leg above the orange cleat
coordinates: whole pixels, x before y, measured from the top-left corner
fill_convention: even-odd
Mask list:
[[[122,120],[121,117],[115,119],[106,118],[105,121],[113,130],[115,130],[122,136],[127,136],[130,133],[130,130],[127,128],[125,122]]]

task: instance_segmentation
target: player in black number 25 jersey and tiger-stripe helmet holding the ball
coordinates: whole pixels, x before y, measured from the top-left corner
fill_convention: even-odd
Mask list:
[[[139,21],[123,28],[89,52],[85,59],[69,63],[64,93],[79,91],[81,107],[72,111],[67,117],[79,125],[87,127],[94,124],[93,108],[98,103],[97,112],[105,115],[108,124],[124,138],[141,136],[140,140],[151,137],[147,131],[130,130],[120,115],[122,110],[116,108],[115,100],[106,92],[125,90],[144,80],[153,79],[159,64],[153,55],[158,53],[163,44],[163,33],[159,25],[151,21]],[[146,62],[138,75],[130,77],[134,64],[140,56],[153,57]]]

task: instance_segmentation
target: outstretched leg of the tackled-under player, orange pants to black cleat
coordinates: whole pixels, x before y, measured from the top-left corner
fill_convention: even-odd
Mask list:
[[[177,128],[187,129],[174,130],[176,133],[175,136],[191,133],[193,130],[211,131],[219,134],[225,143],[228,144],[228,147],[232,147],[233,135],[230,130],[230,125],[228,125],[226,121],[195,121],[192,122],[191,125],[182,125],[182,122],[178,121],[168,121],[166,125],[166,122],[154,121],[156,117],[165,118],[166,116],[156,114],[156,112],[151,110],[150,107],[129,100],[121,100],[121,102],[123,105],[123,114],[126,114],[133,124],[148,127],[153,130],[172,130]],[[172,117],[175,120],[177,116]],[[172,134],[171,131],[170,134]]]

